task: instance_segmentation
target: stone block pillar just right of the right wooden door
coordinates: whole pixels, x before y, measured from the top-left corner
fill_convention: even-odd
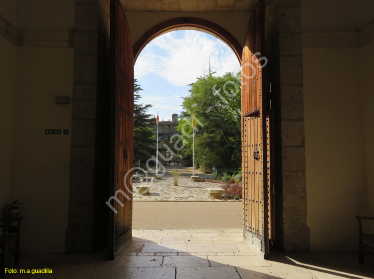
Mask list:
[[[271,93],[275,141],[276,244],[309,250],[303,106],[300,0],[265,1],[267,92]]]

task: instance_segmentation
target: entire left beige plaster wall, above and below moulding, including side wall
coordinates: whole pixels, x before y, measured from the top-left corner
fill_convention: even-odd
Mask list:
[[[44,45],[42,41],[47,39],[58,46],[68,38],[60,33],[48,36],[45,31],[72,28],[75,2],[0,0],[0,15],[24,34],[27,30],[43,31],[28,34],[28,40],[40,41],[35,45]],[[25,252],[64,252],[70,135],[44,135],[44,130],[71,132],[71,104],[57,105],[55,96],[70,96],[71,100],[73,51],[16,47],[0,36],[0,206],[20,199]]]

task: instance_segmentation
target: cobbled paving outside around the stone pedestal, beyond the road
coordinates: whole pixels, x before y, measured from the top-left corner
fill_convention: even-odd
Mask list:
[[[179,186],[174,186],[174,177],[169,173],[177,167],[183,173],[179,176]],[[167,166],[167,172],[160,180],[154,179],[148,194],[135,194],[134,201],[236,201],[226,198],[214,199],[205,188],[219,187],[218,183],[211,182],[193,182],[191,181],[192,170],[190,167]],[[196,176],[211,177],[211,174],[203,174],[198,170]],[[153,173],[149,174],[153,177]],[[134,183],[137,186],[137,183]]]

